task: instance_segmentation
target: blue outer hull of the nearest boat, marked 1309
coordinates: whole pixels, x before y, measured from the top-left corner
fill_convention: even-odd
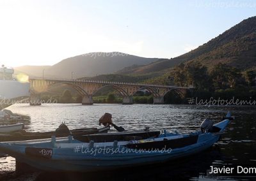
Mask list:
[[[207,139],[207,141],[197,142],[193,145],[188,145],[187,147],[175,148],[172,149],[171,152],[166,153],[145,152],[124,154],[120,152],[118,154],[92,154],[95,149],[91,153],[85,153],[85,149],[83,150],[83,143],[81,143],[80,152],[76,152],[75,148],[51,148],[49,149],[52,152],[51,157],[41,156],[40,154],[29,154],[28,151],[26,152],[26,147],[20,146],[17,146],[17,148],[15,148],[15,152],[6,147],[2,149],[2,151],[8,153],[8,155],[12,157],[15,157],[16,160],[20,163],[29,164],[30,166],[33,166],[40,170],[90,172],[100,170],[112,170],[116,168],[124,168],[130,166],[141,166],[144,164],[163,163],[172,159],[190,156],[211,147],[220,138],[220,136],[211,137],[211,140]],[[204,139],[200,139],[199,136],[198,141],[200,140]],[[45,153],[47,152],[47,148],[40,149],[45,149]],[[118,149],[127,150],[130,148],[122,146]],[[19,152],[17,152],[17,150],[19,150]],[[40,151],[36,150],[36,152]]]

